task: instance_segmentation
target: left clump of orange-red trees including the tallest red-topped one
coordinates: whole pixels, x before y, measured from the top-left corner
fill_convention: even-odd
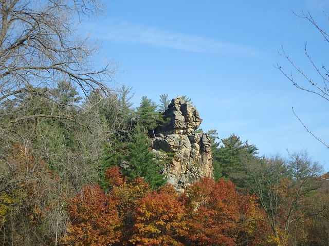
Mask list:
[[[132,182],[118,167],[105,171],[106,192],[97,184],[86,185],[69,202],[65,235],[61,245],[129,245],[138,201],[150,188],[143,178]]]

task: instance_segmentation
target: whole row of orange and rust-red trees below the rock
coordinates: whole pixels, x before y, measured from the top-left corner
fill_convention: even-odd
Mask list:
[[[65,245],[265,245],[255,197],[230,181],[204,178],[179,195],[142,178],[127,183],[118,168],[106,178],[108,194],[87,186],[72,200]]]

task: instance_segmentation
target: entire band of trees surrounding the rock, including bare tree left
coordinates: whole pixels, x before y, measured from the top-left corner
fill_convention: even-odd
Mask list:
[[[328,183],[304,152],[260,157],[211,130],[214,180],[184,194],[166,184],[173,156],[149,137],[167,124],[168,95],[133,108],[130,88],[108,86],[115,64],[94,64],[74,29],[99,10],[0,4],[0,244],[328,244]]]

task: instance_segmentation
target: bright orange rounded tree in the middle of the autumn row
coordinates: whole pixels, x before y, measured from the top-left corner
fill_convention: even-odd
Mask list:
[[[136,207],[134,235],[137,245],[185,245],[179,240],[185,233],[185,208],[172,186],[159,193],[150,192]]]

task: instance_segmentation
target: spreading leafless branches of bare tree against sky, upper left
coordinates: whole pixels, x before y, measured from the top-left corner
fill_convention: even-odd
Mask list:
[[[96,1],[8,0],[0,4],[0,102],[28,87],[66,80],[85,93],[107,90],[113,67],[94,70],[97,47],[75,32],[76,14],[92,14]]]

